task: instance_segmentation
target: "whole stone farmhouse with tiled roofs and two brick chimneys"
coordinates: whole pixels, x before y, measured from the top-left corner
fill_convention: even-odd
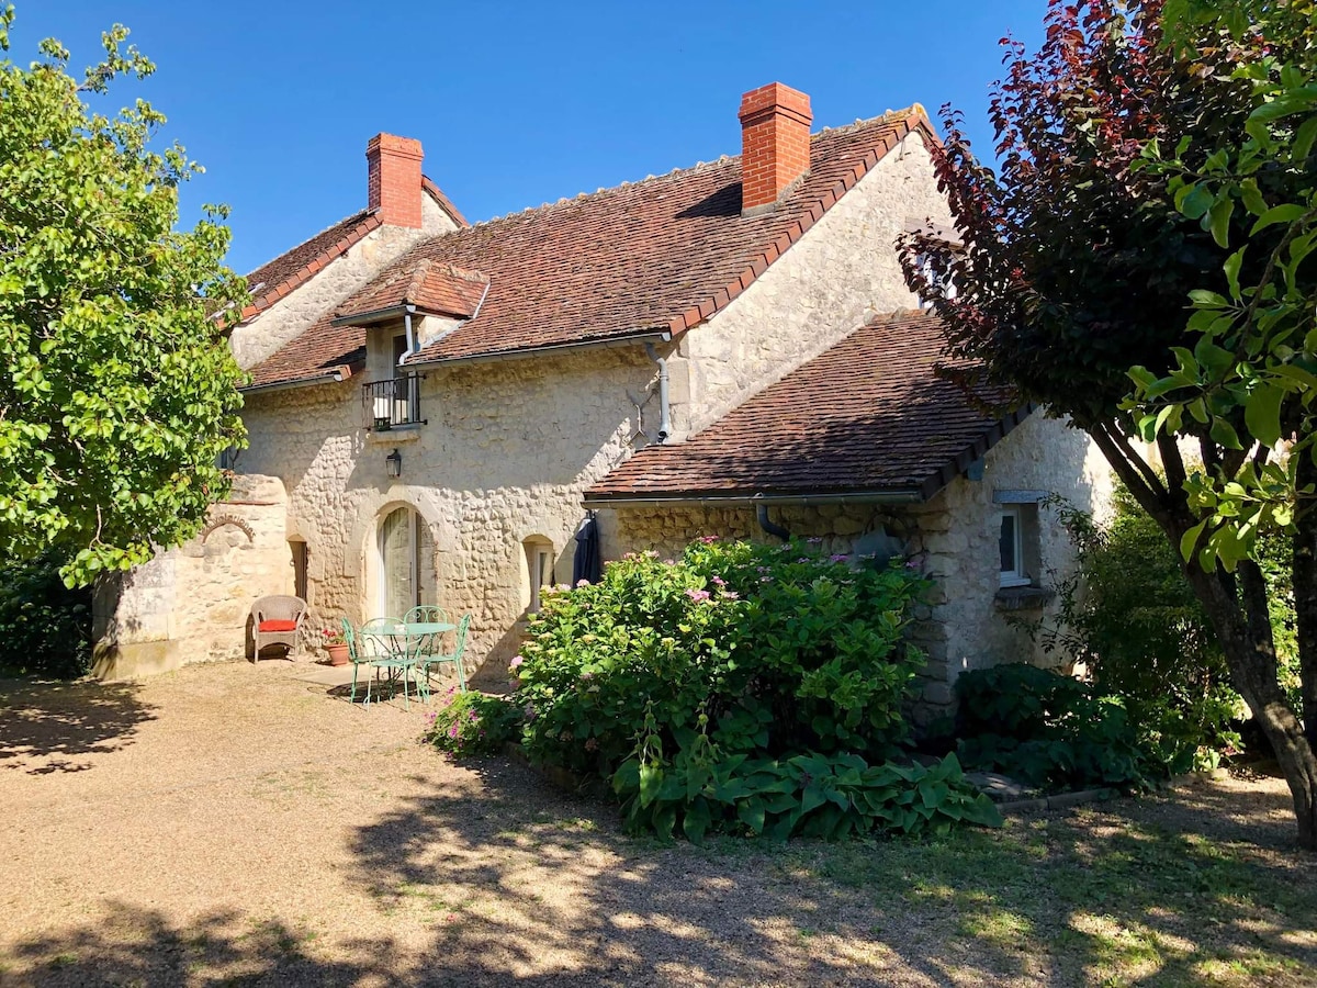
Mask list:
[[[739,119],[739,157],[474,225],[417,141],[373,138],[366,208],[249,277],[233,499],[103,594],[101,672],[237,655],[252,601],[295,591],[312,638],[470,613],[502,678],[586,511],[605,559],[784,530],[917,553],[932,707],[960,669],[1034,657],[1008,613],[1072,563],[1042,502],[1092,508],[1108,476],[1081,432],[935,375],[894,246],[950,223],[923,109],[811,134],[773,83]]]

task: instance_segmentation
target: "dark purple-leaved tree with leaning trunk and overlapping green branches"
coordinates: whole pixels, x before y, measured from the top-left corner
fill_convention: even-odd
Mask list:
[[[1272,20],[1275,11],[1303,17]],[[1192,43],[1171,43],[1163,0],[1051,0],[1042,49],[1009,46],[992,100],[998,170],[946,113],[935,159],[963,244],[914,236],[903,261],[968,373],[1069,416],[1169,543],[1192,555],[1185,576],[1281,763],[1300,842],[1317,847],[1317,589],[1305,618],[1305,588],[1317,580],[1304,578],[1317,541],[1299,534],[1317,530],[1317,518],[1293,498],[1288,514],[1271,512],[1297,535],[1305,734],[1279,681],[1268,581],[1249,555],[1266,519],[1245,507],[1268,485],[1308,497],[1312,458],[1276,451],[1308,429],[1306,411],[1295,415],[1308,408],[1304,354],[1317,343],[1297,329],[1300,299],[1312,316],[1301,227],[1312,142],[1301,112],[1289,113],[1297,101],[1280,95],[1306,92],[1309,75],[1295,66],[1310,67],[1310,43],[1281,28],[1310,24],[1310,11],[1306,0],[1260,3],[1238,36],[1220,18],[1185,18],[1176,26]],[[1159,149],[1175,150],[1169,166],[1156,166]],[[1243,162],[1262,158],[1243,174]],[[1191,299],[1208,307],[1192,323]]]

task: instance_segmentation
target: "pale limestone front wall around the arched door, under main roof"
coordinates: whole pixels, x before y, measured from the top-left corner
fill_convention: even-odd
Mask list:
[[[287,483],[319,626],[378,617],[379,520],[415,508],[433,540],[439,602],[471,614],[471,661],[493,656],[502,676],[529,603],[523,543],[547,537],[556,577],[570,577],[581,495],[630,449],[639,423],[628,391],[652,374],[639,348],[431,368],[427,424],[385,433],[362,429],[357,381],[255,394],[241,466]],[[398,480],[385,465],[394,449]]]

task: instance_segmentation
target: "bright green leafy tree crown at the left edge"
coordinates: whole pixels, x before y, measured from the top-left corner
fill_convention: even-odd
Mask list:
[[[53,40],[28,67],[0,61],[0,555],[53,551],[70,584],[194,535],[244,436],[242,373],[212,317],[245,296],[221,262],[225,211],[176,231],[199,169],[149,149],[165,117],[84,101],[154,70],[126,36],[104,34],[82,80]]]

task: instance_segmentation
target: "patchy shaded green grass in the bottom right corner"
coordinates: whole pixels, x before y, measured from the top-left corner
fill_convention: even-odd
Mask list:
[[[769,867],[1004,975],[1027,963],[1063,984],[1317,983],[1312,863],[1245,842],[1085,811],[947,840],[789,846]]]

